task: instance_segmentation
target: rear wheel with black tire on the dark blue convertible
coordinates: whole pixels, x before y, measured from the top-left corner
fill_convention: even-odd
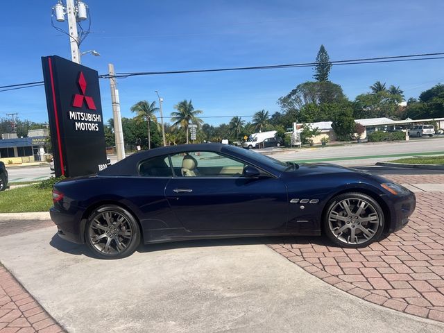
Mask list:
[[[140,244],[140,228],[133,214],[117,205],[105,205],[89,215],[85,241],[103,259],[128,257]]]

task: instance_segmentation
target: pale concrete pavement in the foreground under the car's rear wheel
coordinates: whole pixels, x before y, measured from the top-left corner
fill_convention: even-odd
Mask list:
[[[257,239],[142,246],[105,261],[43,228],[1,237],[0,253],[68,332],[444,330],[325,284]]]

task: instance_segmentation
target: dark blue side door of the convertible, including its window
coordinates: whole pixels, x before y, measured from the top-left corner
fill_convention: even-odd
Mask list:
[[[282,180],[266,173],[246,178],[242,176],[244,162],[219,153],[188,155],[196,160],[193,172],[182,170],[182,161],[190,157],[172,155],[176,176],[165,189],[173,212],[187,230],[254,233],[285,228],[288,206]],[[182,176],[193,173],[195,176]]]

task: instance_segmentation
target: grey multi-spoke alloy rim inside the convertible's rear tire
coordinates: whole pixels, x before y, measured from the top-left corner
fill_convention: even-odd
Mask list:
[[[94,216],[88,230],[92,246],[105,255],[122,253],[130,245],[133,233],[126,216],[110,210]]]

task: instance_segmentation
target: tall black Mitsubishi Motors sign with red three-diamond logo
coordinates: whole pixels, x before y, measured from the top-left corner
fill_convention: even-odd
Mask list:
[[[42,67],[56,177],[105,169],[97,71],[58,56],[42,57]]]

